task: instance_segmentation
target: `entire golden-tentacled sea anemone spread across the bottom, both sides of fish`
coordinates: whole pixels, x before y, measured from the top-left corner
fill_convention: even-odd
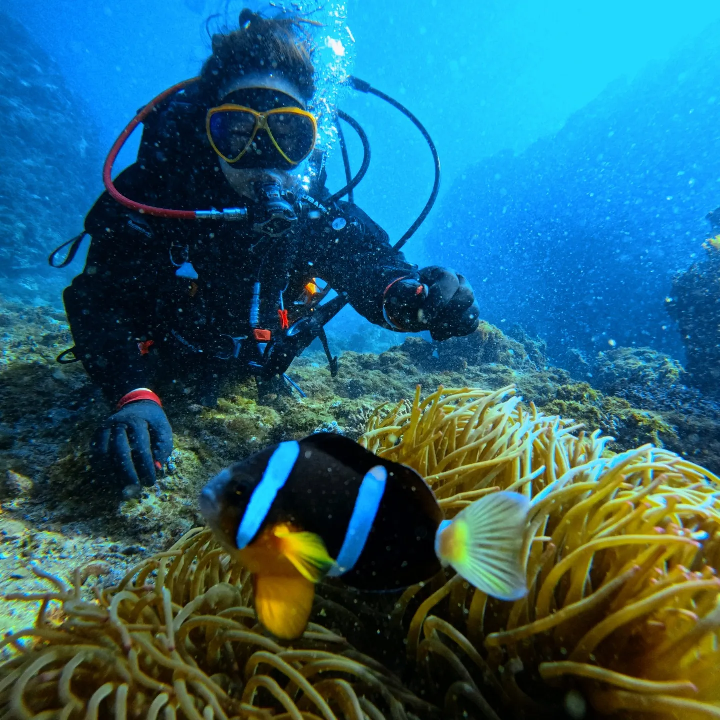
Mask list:
[[[372,415],[361,443],[423,474],[449,517],[498,489],[532,503],[526,598],[451,571],[397,598],[405,684],[323,626],[292,647],[262,634],[247,573],[197,529],[94,600],[98,568],[71,588],[45,576],[53,592],[22,598],[42,603],[35,627],[3,643],[17,652],[0,717],[720,717],[720,482],[653,446],[610,454],[609,439],[512,387],[418,387]]]

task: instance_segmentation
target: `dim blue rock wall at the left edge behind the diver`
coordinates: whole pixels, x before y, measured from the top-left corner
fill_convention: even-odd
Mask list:
[[[0,12],[0,277],[4,292],[59,301],[48,255],[82,229],[99,193],[97,131],[60,70]]]

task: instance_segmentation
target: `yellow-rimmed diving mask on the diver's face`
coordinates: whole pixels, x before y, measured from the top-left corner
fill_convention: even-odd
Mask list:
[[[226,163],[243,160],[243,167],[294,167],[312,153],[318,138],[318,122],[300,107],[258,112],[224,104],[210,109],[205,125],[212,149]]]

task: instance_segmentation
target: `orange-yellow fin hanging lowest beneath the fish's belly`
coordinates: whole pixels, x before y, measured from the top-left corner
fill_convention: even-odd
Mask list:
[[[299,638],[307,627],[315,598],[315,584],[302,575],[255,575],[258,620],[282,640]]]

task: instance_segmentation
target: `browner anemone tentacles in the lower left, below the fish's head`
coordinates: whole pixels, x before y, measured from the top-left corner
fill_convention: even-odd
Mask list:
[[[0,708],[10,716],[361,720],[402,717],[403,706],[433,716],[322,626],[310,624],[292,647],[264,636],[248,574],[208,530],[189,532],[84,600],[84,582],[105,570],[77,570],[71,588],[36,570],[53,590],[12,596],[42,605],[34,627],[0,644],[18,651],[0,667]]]

